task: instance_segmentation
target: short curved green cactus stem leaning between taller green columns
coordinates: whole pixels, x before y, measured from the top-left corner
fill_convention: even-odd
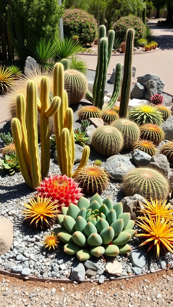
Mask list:
[[[114,90],[108,105],[104,107],[103,110],[110,110],[112,107],[115,106],[119,96],[120,86],[121,86],[121,63],[117,63],[115,69]]]

